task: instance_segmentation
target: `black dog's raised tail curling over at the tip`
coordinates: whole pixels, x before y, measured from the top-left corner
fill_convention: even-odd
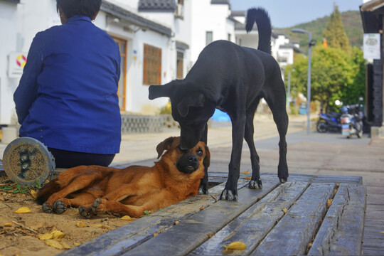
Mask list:
[[[247,11],[247,23],[245,30],[247,33],[252,31],[253,24],[256,22],[257,30],[259,31],[259,46],[258,50],[271,54],[271,34],[272,26],[270,16],[267,11],[262,8],[251,8]]]

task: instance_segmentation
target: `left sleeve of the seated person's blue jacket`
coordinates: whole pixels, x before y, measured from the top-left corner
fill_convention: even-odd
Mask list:
[[[18,122],[23,123],[28,116],[29,108],[37,97],[37,80],[38,75],[43,68],[43,52],[42,52],[41,34],[37,33],[33,38],[31,48],[28,51],[26,65],[23,69],[23,75],[14,93],[14,102],[16,104],[16,113]]]

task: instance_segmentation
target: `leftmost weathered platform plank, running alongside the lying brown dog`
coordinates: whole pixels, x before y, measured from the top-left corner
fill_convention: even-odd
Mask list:
[[[246,186],[248,181],[241,180],[238,188]],[[225,184],[210,188],[210,195],[218,198]],[[201,208],[208,208],[215,203],[209,195],[193,196],[172,206],[135,220],[128,225],[112,230],[97,238],[83,243],[61,255],[117,255],[149,240],[155,233],[161,233],[172,227],[176,221],[188,218]],[[181,210],[182,209],[182,210]]]

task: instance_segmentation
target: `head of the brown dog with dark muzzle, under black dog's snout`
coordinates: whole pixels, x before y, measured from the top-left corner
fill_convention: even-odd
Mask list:
[[[184,151],[180,149],[180,137],[169,137],[157,145],[158,159],[165,150],[163,159],[176,165],[183,174],[192,174],[195,171],[203,174],[204,167],[208,168],[210,165],[209,149],[204,142],[198,142],[196,146]]]

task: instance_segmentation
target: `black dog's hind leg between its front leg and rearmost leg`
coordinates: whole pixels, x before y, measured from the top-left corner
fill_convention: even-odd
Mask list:
[[[250,158],[252,164],[252,179],[248,187],[252,189],[262,189],[262,181],[260,178],[260,158],[255,149],[255,141],[253,139],[253,134],[255,132],[253,127],[253,118],[255,117],[255,110],[259,101],[260,99],[257,99],[257,102],[255,102],[255,107],[252,107],[252,109],[248,110],[247,119],[245,120],[244,139],[250,148]]]

